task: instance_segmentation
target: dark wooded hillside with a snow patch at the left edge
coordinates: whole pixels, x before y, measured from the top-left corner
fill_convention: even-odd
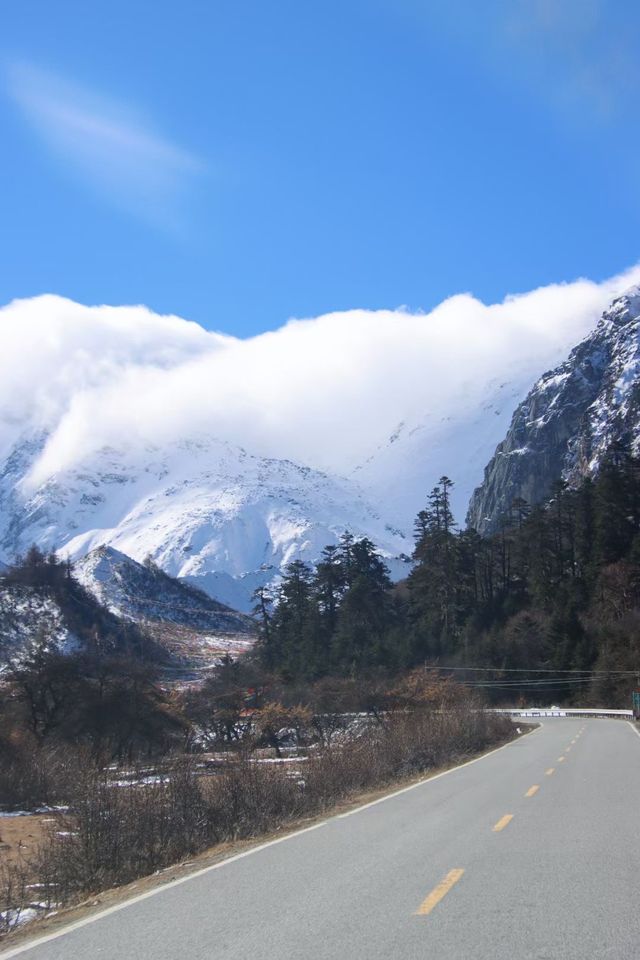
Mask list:
[[[0,803],[25,777],[36,789],[45,745],[131,755],[182,735],[158,683],[166,651],[36,547],[2,574],[0,655]]]

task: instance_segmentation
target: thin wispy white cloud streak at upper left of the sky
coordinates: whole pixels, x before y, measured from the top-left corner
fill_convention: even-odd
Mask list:
[[[30,64],[12,64],[7,90],[66,172],[112,203],[175,227],[202,162],[130,107]]]

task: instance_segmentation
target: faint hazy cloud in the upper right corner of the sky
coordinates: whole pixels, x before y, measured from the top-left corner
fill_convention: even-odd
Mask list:
[[[625,120],[640,89],[640,12],[609,0],[395,0],[572,123]]]

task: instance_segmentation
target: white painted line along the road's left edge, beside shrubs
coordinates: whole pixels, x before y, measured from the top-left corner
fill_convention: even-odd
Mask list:
[[[49,933],[44,937],[39,937],[37,940],[31,940],[29,943],[21,944],[19,947],[14,947],[13,950],[9,950],[5,953],[0,952],[0,960],[9,960],[10,957],[17,957],[21,953],[27,953],[29,950],[35,950],[36,947],[42,946],[43,943],[49,943],[51,940],[57,940],[59,937],[64,937],[68,933],[72,933],[74,930],[79,930],[80,927],[86,927],[90,923],[95,923],[97,920],[102,920],[103,917],[108,917],[112,913],[117,913],[119,910],[126,910],[127,907],[132,907],[135,903],[140,903],[142,900],[148,900],[149,897],[155,897],[159,893],[164,893],[166,890],[170,890],[172,887],[178,887],[182,883],[188,883],[190,880],[195,880],[197,877],[202,877],[205,873],[211,873],[212,870],[219,870],[221,867],[226,867],[229,863],[235,863],[236,860],[243,860],[244,857],[250,857],[254,853],[260,853],[262,850],[266,850],[267,847],[274,847],[277,843],[284,843],[286,840],[293,840],[295,837],[301,837],[303,833],[310,833],[312,830],[318,830],[320,827],[326,826],[332,820],[344,820],[345,817],[352,817],[356,813],[362,813],[363,810],[368,810],[370,807],[375,807],[379,803],[385,803],[387,800],[393,800],[394,797],[399,797],[403,793],[408,793],[410,790],[415,790],[417,787],[425,787],[430,783],[434,783],[436,780],[440,780],[441,777],[446,777],[450,773],[457,773],[458,770],[464,769],[464,767],[470,767],[474,763],[480,763],[481,760],[486,760],[487,757],[491,757],[494,753],[500,753],[501,750],[506,750],[507,747],[513,747],[516,743],[521,743],[526,737],[532,736],[532,734],[537,733],[538,730],[542,729],[543,724],[540,723],[535,730],[532,730],[531,733],[525,734],[525,737],[518,737],[516,740],[510,740],[508,743],[503,743],[501,747],[496,747],[495,750],[490,750],[488,753],[483,753],[481,757],[475,757],[473,760],[466,760],[464,763],[458,764],[456,767],[451,767],[450,770],[443,770],[442,773],[437,773],[433,777],[424,777],[422,780],[418,780],[417,783],[412,783],[408,787],[402,787],[401,790],[395,790],[393,793],[387,793],[384,797],[380,797],[378,800],[372,800],[370,803],[365,803],[361,807],[356,807],[355,810],[350,810],[348,813],[336,813],[332,817],[327,817],[326,820],[322,820],[320,823],[314,823],[311,827],[303,827],[301,830],[294,830],[293,833],[288,833],[285,837],[278,837],[276,840],[268,840],[266,843],[261,843],[257,847],[251,847],[250,850],[244,850],[242,853],[236,853],[233,857],[227,857],[226,860],[220,860],[219,863],[212,863],[208,867],[203,867],[201,870],[196,870],[194,873],[189,873],[186,877],[179,877],[177,880],[169,880],[167,883],[163,883],[161,887],[156,887],[153,890],[148,890],[146,893],[139,893],[135,897],[131,897],[128,900],[123,901],[123,903],[114,904],[113,907],[107,907],[106,910],[100,910],[97,913],[92,914],[90,917],[85,917],[83,920],[76,920],[75,923],[70,923],[66,927],[62,927],[60,930],[56,930],[55,933]],[[637,731],[636,731],[637,732]],[[180,864],[175,864],[174,868],[179,868]],[[171,867],[168,868],[169,870]],[[140,878],[141,880],[144,877]]]

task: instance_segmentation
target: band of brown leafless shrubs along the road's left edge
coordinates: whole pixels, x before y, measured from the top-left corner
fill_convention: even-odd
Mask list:
[[[371,721],[352,740],[319,740],[291,763],[235,755],[208,775],[188,758],[155,777],[140,770],[119,784],[112,771],[89,763],[79,771],[75,764],[69,812],[58,815],[35,868],[51,896],[73,902],[215,843],[267,833],[363,790],[455,762],[511,730],[509,721],[476,705],[430,706]],[[5,899],[16,896],[18,879],[11,882]]]

